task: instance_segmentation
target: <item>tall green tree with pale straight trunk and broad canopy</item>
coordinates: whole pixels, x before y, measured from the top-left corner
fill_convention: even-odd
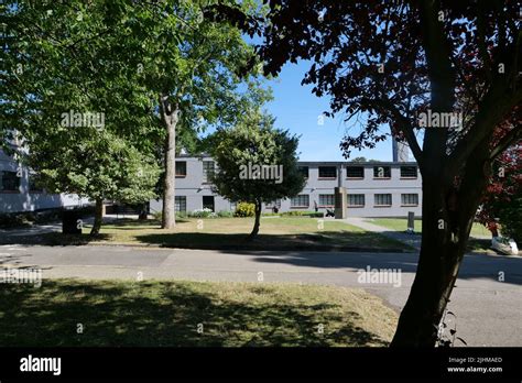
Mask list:
[[[10,1],[8,8],[6,125],[36,154],[43,139],[64,138],[55,147],[78,139],[44,135],[42,127],[57,129],[62,112],[104,111],[115,136],[163,156],[163,227],[172,228],[176,141],[193,143],[200,120],[233,121],[247,99],[262,94],[252,91],[255,79],[248,96],[237,91],[235,70],[253,54],[239,30],[205,20],[199,1]]]

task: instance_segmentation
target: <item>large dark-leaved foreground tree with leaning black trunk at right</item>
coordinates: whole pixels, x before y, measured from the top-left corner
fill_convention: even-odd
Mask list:
[[[367,118],[360,133],[344,139],[346,155],[384,140],[388,125],[418,163],[422,249],[392,346],[433,347],[491,162],[522,134],[518,7],[500,0],[272,0],[269,7],[259,51],[265,73],[312,61],[303,83],[330,97],[328,116]],[[501,124],[507,129],[494,140]]]

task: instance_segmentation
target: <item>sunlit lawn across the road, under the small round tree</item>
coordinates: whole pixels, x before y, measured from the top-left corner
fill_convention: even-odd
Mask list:
[[[324,220],[320,223],[318,219],[308,217],[265,217],[261,219],[259,236],[253,241],[247,241],[252,227],[253,218],[187,218],[180,219],[174,230],[165,231],[161,230],[159,221],[127,219],[104,225],[95,241],[192,249],[410,250],[407,245],[379,233],[334,220]],[[85,234],[80,237],[66,238],[61,233],[41,237],[51,244],[93,242],[87,234],[89,230],[90,227],[86,226]]]

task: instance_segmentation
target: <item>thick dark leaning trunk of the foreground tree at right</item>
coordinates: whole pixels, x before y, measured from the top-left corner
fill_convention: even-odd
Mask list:
[[[490,176],[485,143],[468,160],[460,185],[423,177],[423,232],[417,272],[391,347],[434,347]]]

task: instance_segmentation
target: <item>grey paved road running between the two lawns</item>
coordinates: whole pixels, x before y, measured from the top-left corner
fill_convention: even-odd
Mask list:
[[[40,266],[43,277],[291,282],[363,287],[400,310],[416,270],[414,253],[204,251],[118,247],[0,245],[0,267]],[[401,285],[359,283],[358,270],[400,270]],[[504,282],[499,282],[499,273]],[[448,309],[469,346],[522,346],[522,259],[466,255]]]

